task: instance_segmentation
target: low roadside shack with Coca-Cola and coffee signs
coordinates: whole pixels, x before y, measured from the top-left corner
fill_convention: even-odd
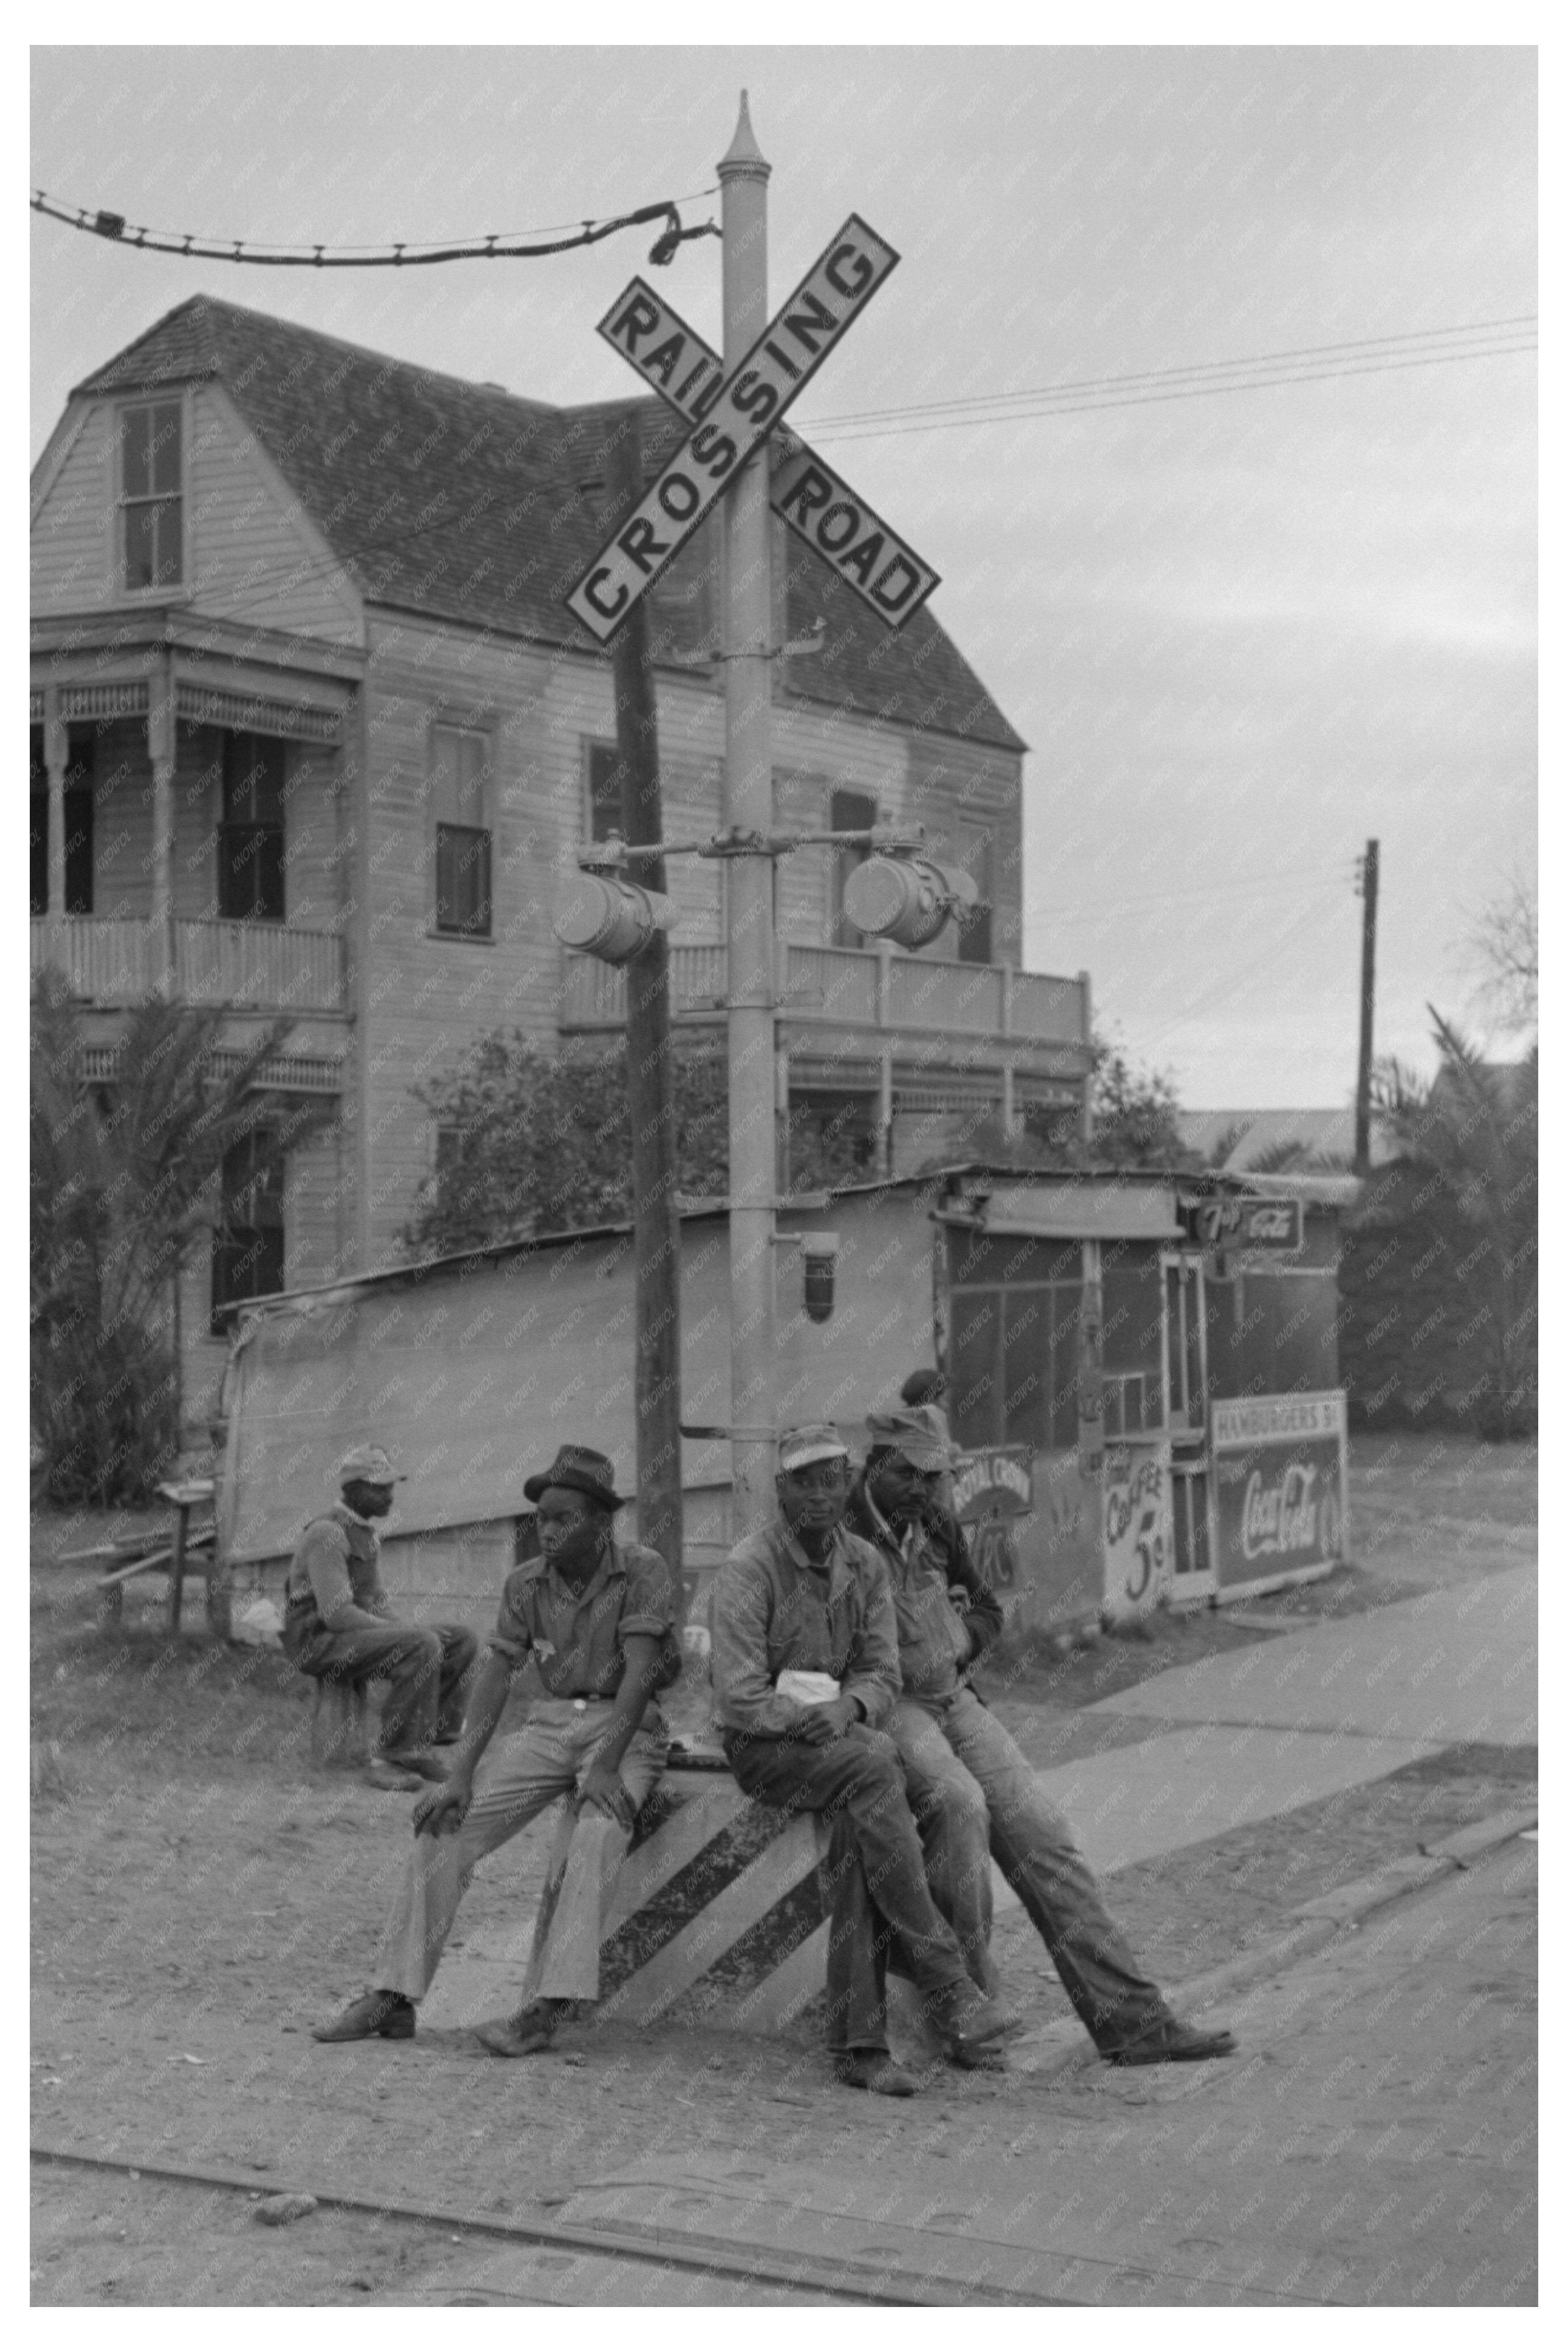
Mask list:
[[[1345,1552],[1340,1178],[954,1167],[778,1216],[778,1421],[867,1411],[938,1362],[959,1508],[1025,1625],[1241,1597]],[[802,1232],[837,1235],[827,1319]],[[270,1590],[362,1437],[409,1482],[383,1538],[411,1613],[484,1623],[531,1550],[522,1479],[567,1437],[635,1463],[630,1228],[508,1242],[249,1308],[219,1545]],[[682,1218],[682,1425],[729,1428],[726,1211]],[[689,1618],[731,1541],[729,1442],[682,1446]],[[1006,1526],[1006,1538],[1001,1529]]]

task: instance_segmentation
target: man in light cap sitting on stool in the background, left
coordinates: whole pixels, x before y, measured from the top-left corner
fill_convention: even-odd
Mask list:
[[[282,1646],[320,1682],[386,1682],[381,1740],[369,1778],[381,1788],[444,1780],[430,1740],[463,1729],[465,1675],[477,1642],[468,1625],[407,1625],[381,1585],[376,1519],[393,1508],[393,1470],[381,1446],[355,1446],[339,1463],[343,1501],[313,1519],[289,1562]]]

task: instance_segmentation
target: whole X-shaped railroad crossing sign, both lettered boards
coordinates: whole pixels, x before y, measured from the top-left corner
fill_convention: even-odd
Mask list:
[[[693,430],[567,593],[567,607],[599,644],[675,562],[896,266],[893,247],[851,212],[729,376],[717,353],[642,278],[607,310],[599,334]],[[773,513],[882,621],[900,628],[926,602],[938,574],[802,440],[780,433],[778,447],[783,466],[769,492]]]

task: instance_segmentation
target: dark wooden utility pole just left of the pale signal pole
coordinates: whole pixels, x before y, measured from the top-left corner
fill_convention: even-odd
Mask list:
[[[609,506],[642,499],[642,433],[628,409],[609,456]],[[658,715],[649,663],[649,609],[639,597],[614,642],[621,833],[656,842]],[[663,891],[665,861],[635,868]],[[682,1573],[679,1458],[679,1211],[675,1202],[675,1065],[670,1058],[670,943],[661,929],[625,967],[625,1077],[632,1117],[632,1235],[637,1254],[637,1541]]]

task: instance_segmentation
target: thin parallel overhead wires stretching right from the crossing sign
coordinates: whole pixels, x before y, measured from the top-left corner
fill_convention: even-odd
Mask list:
[[[1326,383],[1338,376],[1389,374],[1403,367],[1436,367],[1450,360],[1493,360],[1535,350],[1533,313],[1481,320],[1467,327],[1432,327],[1422,334],[1361,336],[1352,343],[1307,343],[1293,350],[1255,353],[1246,360],[1208,360],[1192,367],[1150,367],[1119,376],[1077,376],[1034,383],[1013,393],[976,393],[966,400],[903,402],[813,419],[813,440],[879,440],[896,433],[943,433],[954,426],[1027,423],[1034,416],[1079,416],[1088,409],[1143,407],[1152,400],[1194,400],[1211,393],[1265,390],[1274,383]]]

